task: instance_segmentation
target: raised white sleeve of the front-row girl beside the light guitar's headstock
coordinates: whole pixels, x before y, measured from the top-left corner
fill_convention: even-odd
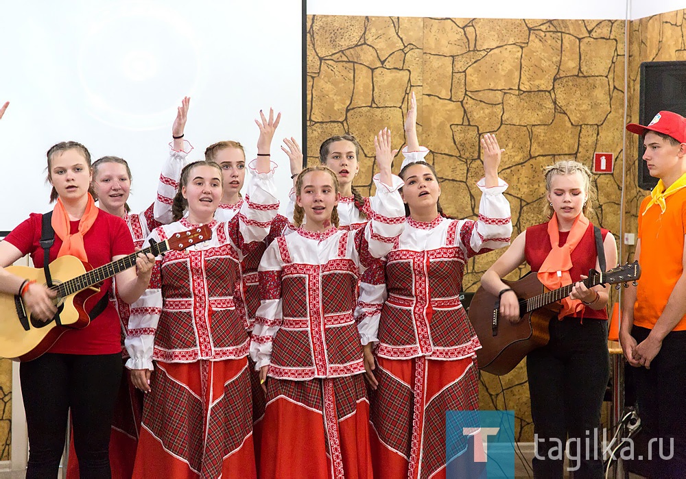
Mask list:
[[[274,164],[271,171],[258,173],[250,162],[251,181],[241,210],[227,223],[231,241],[241,250],[252,241],[263,241],[269,234],[272,220],[279,212],[274,184]]]

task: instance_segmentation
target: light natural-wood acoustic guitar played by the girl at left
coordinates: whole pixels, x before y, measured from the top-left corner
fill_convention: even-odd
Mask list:
[[[38,358],[70,328],[82,329],[91,323],[84,310],[86,299],[99,291],[97,284],[111,278],[120,271],[136,265],[139,253],[163,254],[170,249],[186,249],[212,237],[207,225],[172,235],[169,239],[153,242],[150,247],[137,251],[119,260],[93,269],[75,256],[60,256],[50,263],[50,276],[57,292],[55,305],[57,314],[48,321],[32,317],[31,310],[19,295],[0,293],[0,356],[13,360],[28,361]],[[45,284],[45,270],[26,266],[5,268],[27,280]]]

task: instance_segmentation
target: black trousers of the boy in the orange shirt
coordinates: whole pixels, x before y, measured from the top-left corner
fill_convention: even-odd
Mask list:
[[[637,343],[650,330],[634,326]],[[631,368],[641,418],[641,433],[650,447],[651,477],[686,477],[686,331],[672,331],[662,341],[660,352],[645,367]],[[652,441],[651,441],[652,440]],[[646,459],[643,454],[643,459]]]

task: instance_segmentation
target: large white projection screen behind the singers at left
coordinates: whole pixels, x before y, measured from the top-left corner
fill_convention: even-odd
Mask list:
[[[2,23],[0,230],[50,209],[45,152],[62,140],[93,160],[126,159],[129,204],[147,208],[185,95],[189,160],[219,140],[239,140],[255,158],[259,110],[282,112],[272,160],[285,206],[292,182],[280,145],[303,137],[300,1],[8,0]]]

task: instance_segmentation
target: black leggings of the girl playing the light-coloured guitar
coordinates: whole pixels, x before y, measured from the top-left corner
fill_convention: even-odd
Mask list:
[[[27,479],[57,477],[70,409],[81,478],[110,477],[110,427],[121,373],[119,353],[47,353],[21,363]]]

